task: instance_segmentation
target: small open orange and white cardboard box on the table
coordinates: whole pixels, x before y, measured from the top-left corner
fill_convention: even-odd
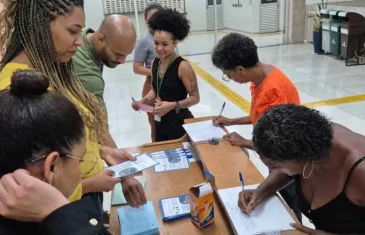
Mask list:
[[[190,189],[191,221],[204,229],[214,224],[214,195],[210,183],[196,185]]]

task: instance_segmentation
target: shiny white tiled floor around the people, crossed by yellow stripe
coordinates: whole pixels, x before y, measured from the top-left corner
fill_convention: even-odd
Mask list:
[[[200,39],[195,46],[201,45],[203,41],[204,39]],[[180,46],[180,52],[184,47],[187,45]],[[292,79],[299,89],[303,103],[365,93],[365,66],[346,67],[344,61],[326,55],[317,55],[312,51],[311,44],[263,47],[259,49],[259,56],[263,62],[276,65]],[[221,78],[222,73],[214,68],[209,54],[188,58],[215,78]],[[144,113],[134,112],[131,108],[131,97],[141,98],[144,77],[135,75],[132,64],[127,63],[116,69],[106,68],[104,78],[110,131],[118,146],[124,148],[150,142],[147,116]],[[246,115],[237,106],[225,100],[213,87],[200,78],[198,80],[201,102],[191,109],[195,117],[218,114],[224,101],[227,105],[223,115],[229,117]],[[234,82],[226,85],[250,100],[249,85],[239,85]],[[365,124],[364,102],[321,107],[319,110],[333,121],[365,134],[365,128],[359,128]],[[251,137],[252,127],[250,126],[234,126],[228,129],[237,131],[247,138]],[[260,172],[267,176],[267,168],[254,153],[251,152],[251,156]]]

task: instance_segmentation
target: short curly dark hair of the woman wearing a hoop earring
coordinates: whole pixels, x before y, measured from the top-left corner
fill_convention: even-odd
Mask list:
[[[332,148],[332,123],[319,111],[294,104],[266,111],[253,130],[257,153],[272,161],[316,161]]]

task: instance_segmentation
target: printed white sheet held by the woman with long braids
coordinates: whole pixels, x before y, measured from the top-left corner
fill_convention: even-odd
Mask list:
[[[105,170],[113,170],[114,178],[119,178],[133,175],[157,164],[158,162],[153,160],[150,155],[141,154],[136,157],[135,161],[126,161],[115,166],[107,167]]]

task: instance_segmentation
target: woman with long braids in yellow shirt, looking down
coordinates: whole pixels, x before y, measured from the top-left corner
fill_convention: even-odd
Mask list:
[[[86,174],[70,200],[91,194],[100,202],[101,192],[122,182],[129,204],[139,206],[146,198],[137,180],[133,177],[114,179],[109,171],[103,171],[102,160],[113,165],[132,157],[125,151],[100,145],[107,138],[104,111],[73,73],[71,57],[81,45],[81,30],[85,25],[83,4],[83,0],[7,1],[0,16],[3,32],[0,48],[4,50],[0,62],[0,89],[9,88],[10,78],[17,70],[35,69],[49,77],[50,89],[68,97],[86,125],[87,154],[86,161],[81,164]]]

